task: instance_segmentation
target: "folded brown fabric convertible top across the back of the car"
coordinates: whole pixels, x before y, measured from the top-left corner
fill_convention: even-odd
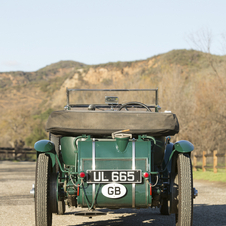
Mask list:
[[[63,136],[106,136],[125,129],[136,135],[173,136],[179,123],[172,113],[63,110],[52,112],[46,124],[48,132]]]

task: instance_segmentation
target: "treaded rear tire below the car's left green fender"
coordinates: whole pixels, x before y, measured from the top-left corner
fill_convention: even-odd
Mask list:
[[[36,163],[35,175],[35,225],[52,225],[52,212],[49,199],[49,156],[40,154]]]

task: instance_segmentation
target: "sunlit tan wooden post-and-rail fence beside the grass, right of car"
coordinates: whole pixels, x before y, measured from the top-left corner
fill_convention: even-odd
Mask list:
[[[206,159],[208,157],[213,158],[213,164],[212,166],[207,166]],[[197,165],[197,159],[202,158],[202,166]],[[218,165],[218,158],[224,158],[224,166]],[[226,169],[226,154],[225,153],[219,153],[217,154],[217,151],[213,151],[212,154],[206,154],[206,151],[203,151],[202,155],[196,155],[193,154],[193,171],[197,171],[197,168],[201,168],[203,172],[206,171],[208,168],[213,168],[213,172],[217,173],[217,169]]]

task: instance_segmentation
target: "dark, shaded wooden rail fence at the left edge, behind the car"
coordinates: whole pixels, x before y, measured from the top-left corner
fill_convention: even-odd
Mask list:
[[[35,154],[34,148],[0,147],[0,160],[29,160]]]

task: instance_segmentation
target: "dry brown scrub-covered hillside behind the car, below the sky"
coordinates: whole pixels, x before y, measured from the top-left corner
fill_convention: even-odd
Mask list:
[[[45,122],[52,110],[63,109],[66,87],[158,87],[162,109],[179,118],[180,133],[174,140],[188,139],[198,150],[222,149],[225,62],[226,56],[172,50],[133,62],[60,61],[35,72],[0,73],[0,146],[13,146],[16,139],[33,145],[47,137]]]

